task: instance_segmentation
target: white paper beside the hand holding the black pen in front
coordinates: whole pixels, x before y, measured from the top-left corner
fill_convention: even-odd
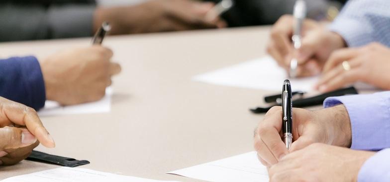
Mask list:
[[[249,152],[214,162],[169,172],[209,182],[268,182],[267,168],[256,152]]]

